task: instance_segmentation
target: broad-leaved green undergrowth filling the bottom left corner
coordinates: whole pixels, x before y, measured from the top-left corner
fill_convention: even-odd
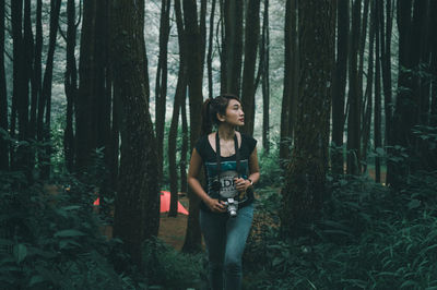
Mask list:
[[[21,172],[0,172],[1,289],[138,289],[114,269],[109,257],[126,254],[101,234],[88,186],[71,177],[23,182]]]

